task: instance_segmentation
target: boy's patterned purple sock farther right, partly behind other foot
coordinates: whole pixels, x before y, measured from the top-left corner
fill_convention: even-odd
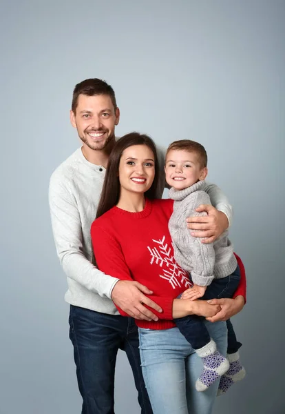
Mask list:
[[[240,363],[240,354],[238,351],[233,354],[228,354],[226,357],[229,359],[230,363],[229,371],[226,371],[226,373],[222,375],[217,395],[226,393],[230,386],[237,381],[243,380],[246,375],[246,371]]]

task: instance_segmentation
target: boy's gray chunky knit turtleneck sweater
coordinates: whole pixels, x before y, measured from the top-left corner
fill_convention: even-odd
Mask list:
[[[201,239],[191,236],[187,228],[187,217],[207,214],[195,211],[200,204],[211,204],[209,195],[204,191],[206,187],[205,181],[198,181],[184,190],[169,190],[169,197],[174,200],[169,231],[176,262],[191,273],[193,283],[199,286],[209,286],[214,278],[229,276],[237,267],[227,231],[215,242],[202,244]]]

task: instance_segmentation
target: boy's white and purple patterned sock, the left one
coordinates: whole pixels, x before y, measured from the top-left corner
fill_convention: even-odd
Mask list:
[[[205,391],[218,378],[229,369],[229,361],[217,351],[217,346],[213,339],[209,344],[195,350],[199,357],[203,359],[203,371],[196,381],[196,390]]]

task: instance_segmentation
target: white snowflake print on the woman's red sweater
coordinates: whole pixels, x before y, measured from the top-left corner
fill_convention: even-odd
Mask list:
[[[192,286],[188,273],[180,268],[176,263],[173,255],[171,255],[171,247],[165,243],[165,236],[161,240],[152,240],[154,243],[158,244],[158,247],[150,248],[149,253],[151,254],[151,264],[158,264],[163,271],[163,275],[159,275],[162,279],[168,280],[172,288],[175,289],[177,286],[181,287],[182,285],[185,288],[190,288]]]

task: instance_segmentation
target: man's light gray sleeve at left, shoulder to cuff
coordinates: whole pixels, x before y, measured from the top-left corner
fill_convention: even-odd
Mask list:
[[[50,179],[49,202],[56,252],[65,274],[87,290],[110,299],[118,279],[98,270],[85,257],[76,201],[68,183],[54,174]]]

